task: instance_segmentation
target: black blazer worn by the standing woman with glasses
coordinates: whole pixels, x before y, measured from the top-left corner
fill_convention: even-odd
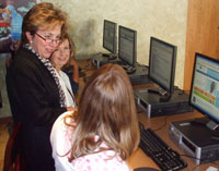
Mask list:
[[[32,51],[20,48],[7,72],[7,89],[13,120],[23,124],[28,170],[54,170],[49,136],[66,108],[53,75]]]

